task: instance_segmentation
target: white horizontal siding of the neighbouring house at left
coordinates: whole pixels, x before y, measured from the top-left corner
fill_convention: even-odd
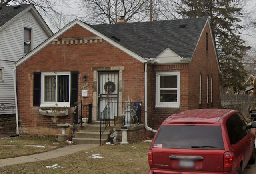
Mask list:
[[[0,32],[0,67],[4,67],[4,80],[0,81],[0,106],[5,105],[4,110],[0,107],[0,115],[15,113],[12,71],[14,63],[24,56],[24,27],[32,29],[32,48],[48,38],[32,13],[30,21],[26,20],[24,14]]]

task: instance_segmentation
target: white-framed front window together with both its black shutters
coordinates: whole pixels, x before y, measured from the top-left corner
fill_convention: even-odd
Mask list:
[[[78,72],[34,72],[33,94],[33,106],[73,106],[78,100]]]

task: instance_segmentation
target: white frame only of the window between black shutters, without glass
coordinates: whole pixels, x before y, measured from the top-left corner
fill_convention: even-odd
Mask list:
[[[69,101],[68,102],[45,102],[44,101],[44,76],[58,76],[58,75],[68,75],[69,76]],[[56,95],[56,94],[55,94]],[[55,97],[57,100],[57,97]],[[41,72],[41,105],[40,107],[69,107],[71,100],[71,73],[70,72]]]

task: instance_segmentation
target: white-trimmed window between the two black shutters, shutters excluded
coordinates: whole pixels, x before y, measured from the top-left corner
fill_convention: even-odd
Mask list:
[[[70,105],[70,72],[42,72],[41,106]]]

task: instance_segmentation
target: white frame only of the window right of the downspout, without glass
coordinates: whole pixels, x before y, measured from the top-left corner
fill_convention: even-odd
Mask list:
[[[177,76],[177,102],[160,102],[160,76]],[[179,108],[180,107],[180,71],[156,73],[156,107]]]

